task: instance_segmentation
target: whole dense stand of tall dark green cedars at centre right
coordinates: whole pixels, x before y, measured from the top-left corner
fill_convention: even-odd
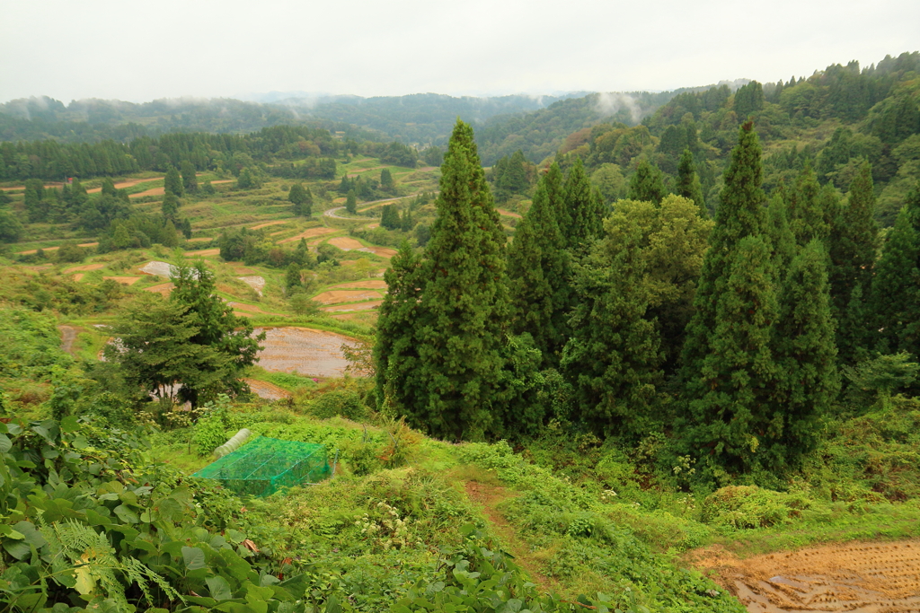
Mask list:
[[[709,483],[798,469],[822,415],[916,375],[920,185],[880,244],[867,162],[846,200],[811,168],[768,199],[753,122],[737,140],[715,220],[651,175],[608,208],[576,159],[540,177],[506,247],[458,123],[431,240],[387,272],[378,406],[452,439],[553,422],[664,445]]]

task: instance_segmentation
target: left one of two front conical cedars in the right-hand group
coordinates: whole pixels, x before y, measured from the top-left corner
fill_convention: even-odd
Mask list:
[[[695,423],[689,442],[710,449],[724,470],[737,473],[773,460],[758,448],[772,448],[776,424],[780,430],[783,424],[782,411],[770,411],[779,374],[771,351],[776,270],[760,236],[742,238],[723,262],[716,324],[688,385]]]

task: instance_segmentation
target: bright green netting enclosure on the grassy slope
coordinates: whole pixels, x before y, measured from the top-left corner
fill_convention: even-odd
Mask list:
[[[322,481],[328,475],[325,446],[259,437],[193,476],[217,479],[238,494],[267,496],[282,487]]]

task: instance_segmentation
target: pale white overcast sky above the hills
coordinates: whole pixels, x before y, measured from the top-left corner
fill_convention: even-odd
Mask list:
[[[0,0],[0,101],[666,90],[917,50],[917,0]]]

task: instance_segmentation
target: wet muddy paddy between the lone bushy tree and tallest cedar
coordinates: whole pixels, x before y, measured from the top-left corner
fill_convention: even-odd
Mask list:
[[[348,366],[342,357],[343,343],[356,346],[348,336],[310,328],[256,328],[265,331],[259,366],[270,372],[294,372],[308,377],[340,377]]]

